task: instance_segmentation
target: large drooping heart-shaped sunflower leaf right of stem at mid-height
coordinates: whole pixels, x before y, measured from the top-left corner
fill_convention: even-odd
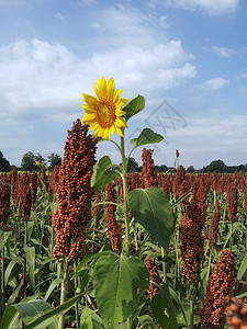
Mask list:
[[[161,188],[136,189],[128,193],[135,219],[168,252],[173,231],[171,206]]]

